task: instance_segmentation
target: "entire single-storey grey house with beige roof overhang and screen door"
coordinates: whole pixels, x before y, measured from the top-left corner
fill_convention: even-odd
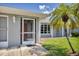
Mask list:
[[[64,36],[63,27],[56,31],[47,14],[0,6],[0,48],[35,45],[41,38]]]

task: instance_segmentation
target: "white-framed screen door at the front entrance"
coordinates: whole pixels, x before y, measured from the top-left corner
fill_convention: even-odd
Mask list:
[[[22,44],[33,45],[35,44],[35,19],[23,18],[22,19]]]

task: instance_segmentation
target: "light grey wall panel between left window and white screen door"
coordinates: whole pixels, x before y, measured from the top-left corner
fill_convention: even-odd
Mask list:
[[[9,29],[8,29],[8,46],[18,46],[20,45],[20,17],[9,15]]]

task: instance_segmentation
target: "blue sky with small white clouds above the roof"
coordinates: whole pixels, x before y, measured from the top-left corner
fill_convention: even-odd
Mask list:
[[[58,5],[58,3],[0,3],[0,6],[13,7],[44,14],[50,13],[58,7]]]

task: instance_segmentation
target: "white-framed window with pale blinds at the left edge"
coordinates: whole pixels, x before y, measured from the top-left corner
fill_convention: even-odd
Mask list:
[[[0,17],[0,42],[7,41],[7,18]]]

